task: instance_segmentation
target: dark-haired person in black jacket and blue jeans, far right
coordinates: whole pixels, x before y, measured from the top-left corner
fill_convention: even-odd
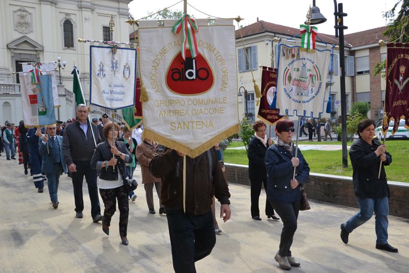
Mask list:
[[[375,212],[375,232],[377,249],[398,252],[388,243],[389,191],[387,176],[383,166],[392,163],[392,156],[385,145],[373,139],[375,121],[365,119],[358,123],[356,133],[359,139],[352,144],[349,157],[352,163],[354,192],[360,211],[347,222],[341,224],[341,239],[347,244],[349,234],[355,228],[371,219]],[[379,163],[382,161],[380,178]]]

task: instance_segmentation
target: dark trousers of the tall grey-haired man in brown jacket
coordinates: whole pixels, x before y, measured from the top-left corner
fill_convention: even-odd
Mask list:
[[[85,180],[88,185],[89,199],[91,200],[91,216],[94,218],[101,214],[98,198],[97,171],[91,169],[90,161],[74,161],[77,166],[77,172],[71,173],[74,187],[75,211],[84,210],[84,199],[82,198],[82,181]]]

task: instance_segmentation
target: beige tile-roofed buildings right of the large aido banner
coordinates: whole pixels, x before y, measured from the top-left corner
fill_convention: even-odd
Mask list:
[[[318,31],[320,31],[320,27],[317,27]],[[242,95],[243,90],[247,90],[247,100],[245,100],[244,96],[239,97],[239,117],[240,119],[244,117],[245,103],[247,101],[247,116],[249,120],[254,121],[257,118],[258,103],[254,94],[251,72],[253,72],[255,80],[260,86],[261,68],[259,66],[277,67],[276,55],[278,43],[273,41],[274,38],[282,38],[283,43],[286,39],[299,34],[300,30],[257,20],[256,23],[243,27],[240,31],[249,56],[250,66],[245,61],[240,32],[236,30],[238,87]],[[376,77],[372,75],[372,70],[376,62],[385,57],[385,54],[383,54],[383,52],[386,52],[385,47],[380,48],[377,44],[377,39],[381,39],[382,32],[384,31],[385,28],[377,28],[345,35],[344,61],[347,112],[351,108],[351,102],[368,101],[371,102],[371,111],[368,116],[375,120],[378,119],[379,110],[382,107],[381,98],[384,93],[384,84],[381,84],[380,75]],[[338,38],[335,38],[334,35],[321,34],[319,32],[319,37],[325,43],[338,45]],[[324,44],[318,41],[317,47],[324,48]],[[334,103],[336,100],[340,101],[339,61],[339,50],[334,49],[334,64],[332,67],[328,67],[328,70],[332,73],[332,112],[331,114],[323,113],[322,115],[323,118],[329,117],[332,120],[340,116],[341,112],[340,108],[336,108]],[[330,75],[327,79],[327,86],[329,86],[329,83]],[[327,101],[328,97],[324,105],[326,105]]]

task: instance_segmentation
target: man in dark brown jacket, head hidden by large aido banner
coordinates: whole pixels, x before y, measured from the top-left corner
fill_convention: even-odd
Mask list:
[[[175,150],[166,150],[150,162],[152,175],[162,178],[161,200],[166,208],[176,273],[196,272],[194,263],[208,256],[216,243],[210,208],[213,195],[221,203],[224,222],[231,216],[229,187],[214,148],[195,158],[186,156],[184,213],[183,157]]]

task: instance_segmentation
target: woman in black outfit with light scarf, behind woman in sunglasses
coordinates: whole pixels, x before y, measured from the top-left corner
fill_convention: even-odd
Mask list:
[[[267,192],[267,175],[264,165],[264,155],[267,148],[272,144],[272,140],[267,140],[266,124],[257,120],[253,124],[255,132],[254,137],[248,143],[247,157],[248,157],[248,178],[251,182],[250,196],[251,196],[251,213],[254,220],[260,221],[259,198],[261,193],[261,185],[264,185],[264,190]],[[280,220],[274,215],[274,209],[270,202],[265,202],[265,214],[267,218],[273,220]]]

